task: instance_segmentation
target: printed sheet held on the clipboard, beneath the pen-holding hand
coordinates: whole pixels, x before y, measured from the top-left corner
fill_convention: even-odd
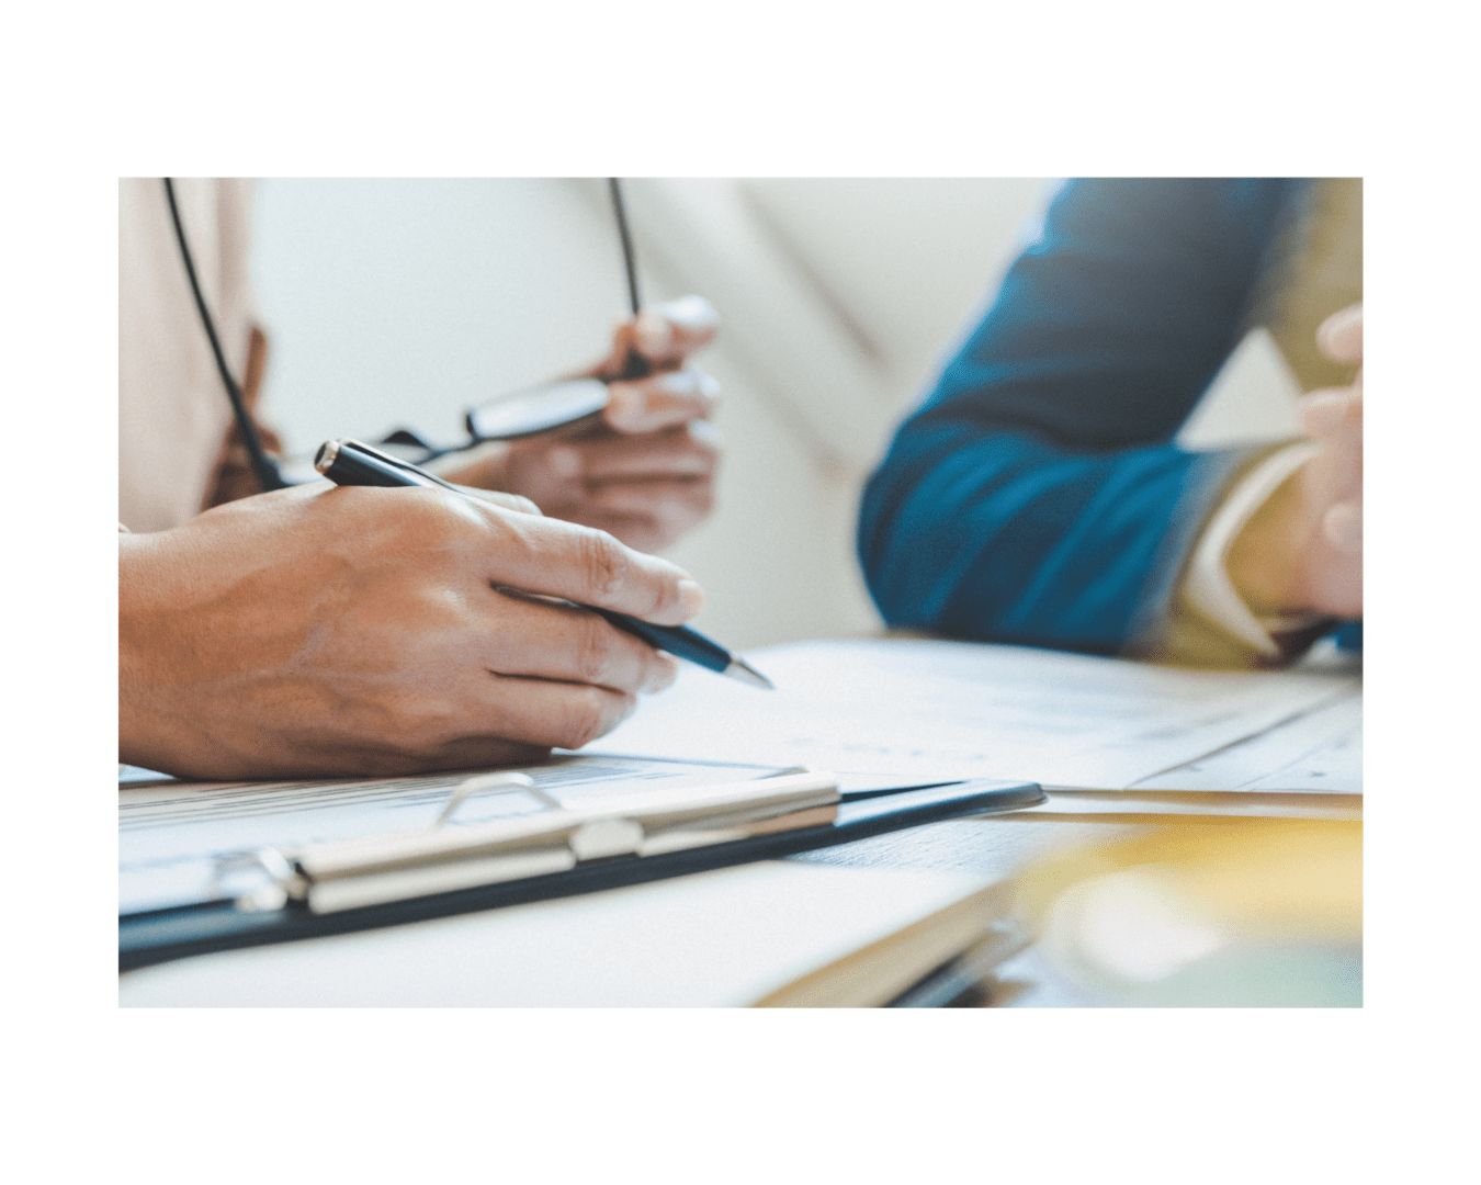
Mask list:
[[[641,790],[740,782],[772,767],[557,755],[521,766],[521,787],[475,791],[449,827],[600,803]],[[164,782],[118,787],[118,912],[230,896],[233,861],[259,847],[298,847],[431,827],[459,773],[312,782]],[[546,797],[541,797],[546,795]],[[240,875],[240,874],[238,874]]]

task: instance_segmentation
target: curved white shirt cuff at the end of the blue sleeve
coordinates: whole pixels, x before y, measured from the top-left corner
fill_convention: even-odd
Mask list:
[[[1235,536],[1250,521],[1254,511],[1265,505],[1265,499],[1275,493],[1281,481],[1296,473],[1317,452],[1317,444],[1300,441],[1271,453],[1250,470],[1229,490],[1223,504],[1208,520],[1203,538],[1194,548],[1192,564],[1188,570],[1186,592],[1194,609],[1262,655],[1272,658],[1280,656],[1281,649],[1271,638],[1271,630],[1297,630],[1302,625],[1309,625],[1315,618],[1311,615],[1265,618],[1263,621],[1256,618],[1244,598],[1234,591],[1226,561]]]

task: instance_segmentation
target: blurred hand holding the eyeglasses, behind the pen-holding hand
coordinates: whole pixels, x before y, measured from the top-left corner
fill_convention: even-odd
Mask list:
[[[609,382],[603,422],[546,433],[469,455],[449,481],[520,493],[545,514],[658,551],[696,526],[712,502],[720,437],[709,424],[720,385],[689,363],[715,336],[702,296],[684,296],[618,326],[612,353],[584,376]],[[652,367],[621,379],[637,354]]]

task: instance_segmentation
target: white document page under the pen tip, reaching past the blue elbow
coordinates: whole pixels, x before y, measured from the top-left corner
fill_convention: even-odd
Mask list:
[[[746,659],[778,690],[686,665],[591,748],[1124,790],[1361,692],[1351,674],[1185,671],[912,638],[804,641]]]

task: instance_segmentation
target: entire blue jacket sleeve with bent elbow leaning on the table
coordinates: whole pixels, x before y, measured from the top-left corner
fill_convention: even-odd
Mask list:
[[[886,621],[1115,653],[1244,453],[1171,438],[1237,344],[1288,181],[1066,185],[865,487]]]

